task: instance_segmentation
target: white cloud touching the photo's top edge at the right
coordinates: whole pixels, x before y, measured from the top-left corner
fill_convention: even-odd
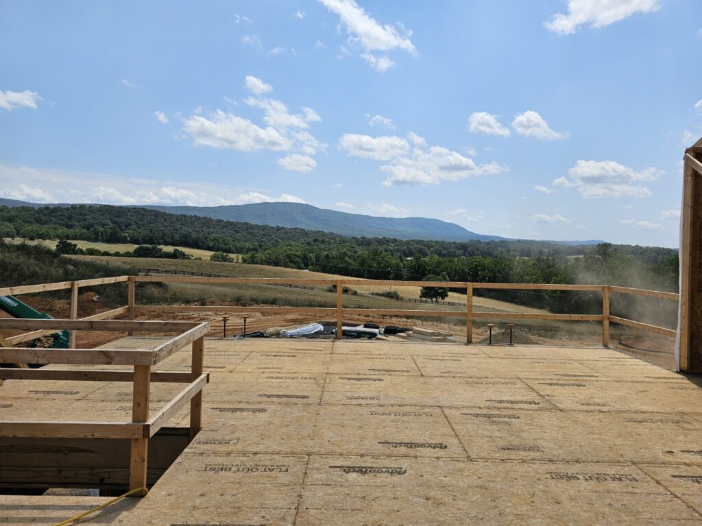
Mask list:
[[[555,15],[544,25],[558,34],[572,34],[583,24],[605,27],[635,13],[653,13],[660,8],[658,0],[568,0],[568,13]]]

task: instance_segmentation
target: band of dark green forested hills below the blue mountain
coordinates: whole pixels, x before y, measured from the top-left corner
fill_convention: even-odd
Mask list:
[[[375,279],[418,280],[444,274],[451,281],[609,283],[677,290],[677,250],[609,243],[571,246],[542,241],[349,238],[144,208],[92,205],[0,207],[0,236],[178,245],[239,253],[244,263]]]

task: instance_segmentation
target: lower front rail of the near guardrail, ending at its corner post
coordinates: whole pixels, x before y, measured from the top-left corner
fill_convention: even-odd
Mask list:
[[[148,436],[144,422],[7,422],[0,436],[26,438],[131,438]]]

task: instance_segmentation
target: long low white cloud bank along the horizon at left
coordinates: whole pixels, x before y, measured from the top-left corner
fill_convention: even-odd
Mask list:
[[[270,196],[257,191],[207,182],[180,183],[125,179],[114,174],[0,165],[0,196],[40,203],[105,203],[112,205],[241,205],[284,201],[304,203],[291,194]]]

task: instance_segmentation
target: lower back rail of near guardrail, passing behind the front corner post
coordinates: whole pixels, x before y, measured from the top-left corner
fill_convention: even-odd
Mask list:
[[[151,382],[185,383],[192,375],[183,371],[152,371]],[[59,380],[62,382],[133,382],[133,370],[112,369],[9,369],[0,368],[4,380]]]

